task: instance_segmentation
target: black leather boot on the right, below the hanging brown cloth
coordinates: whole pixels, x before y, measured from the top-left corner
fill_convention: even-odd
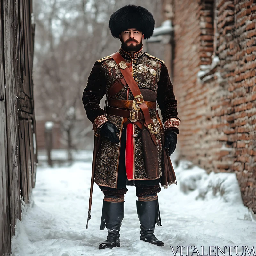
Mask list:
[[[161,218],[158,218],[158,199],[153,201],[137,200],[136,205],[138,217],[140,220],[140,240],[155,244],[157,246],[164,246],[164,243],[160,240],[157,240],[154,235],[155,224],[157,223],[158,226],[162,226]]]

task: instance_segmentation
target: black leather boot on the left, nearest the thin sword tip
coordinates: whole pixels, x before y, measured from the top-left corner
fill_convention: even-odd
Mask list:
[[[103,200],[100,230],[108,229],[108,237],[99,249],[120,247],[120,227],[124,219],[124,202],[107,202]]]

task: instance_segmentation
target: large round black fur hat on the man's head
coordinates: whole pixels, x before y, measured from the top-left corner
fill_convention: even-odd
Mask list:
[[[116,38],[119,38],[122,31],[128,28],[136,28],[142,31],[144,39],[147,39],[153,34],[155,20],[152,13],[146,8],[128,4],[111,15],[108,26],[112,36]]]

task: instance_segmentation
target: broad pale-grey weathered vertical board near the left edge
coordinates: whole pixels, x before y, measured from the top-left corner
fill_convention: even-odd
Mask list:
[[[10,191],[11,236],[15,232],[16,218],[21,220],[20,202],[20,168],[16,86],[18,86],[16,36],[17,36],[17,2],[2,0],[4,14],[4,63],[6,84],[6,127],[7,154]],[[6,43],[5,43],[6,42]]]

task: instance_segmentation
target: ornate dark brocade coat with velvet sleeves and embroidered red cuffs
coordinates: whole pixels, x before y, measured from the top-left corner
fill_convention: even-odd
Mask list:
[[[122,48],[119,53],[123,56],[126,64],[140,88],[140,91],[145,99],[144,93],[149,93],[149,101],[157,101],[161,109],[162,119],[165,129],[172,129],[179,133],[180,119],[177,117],[177,100],[173,93],[173,86],[169,78],[168,70],[163,60],[160,60],[150,54],[143,52],[143,49],[138,52],[125,52]],[[97,129],[107,120],[115,124],[120,131],[117,133],[121,141],[123,131],[124,117],[109,114],[104,115],[104,110],[100,108],[99,103],[106,94],[109,100],[133,100],[134,97],[128,85],[115,95],[109,95],[109,88],[116,82],[117,79],[122,79],[123,76],[116,62],[111,56],[104,57],[94,63],[88,83],[83,92],[83,104],[86,110],[87,117],[94,123]],[[154,99],[152,99],[152,97]],[[156,110],[149,110],[150,117],[154,124],[160,130],[160,124],[157,121]],[[138,134],[140,129],[137,125],[132,126],[133,134]],[[128,138],[127,138],[128,140]],[[127,141],[126,140],[126,144]],[[117,188],[117,173],[120,153],[120,143],[110,142],[106,138],[101,139],[101,146],[97,156],[95,183],[101,186]],[[159,177],[162,175],[162,141],[161,134],[156,134]],[[129,168],[126,165],[126,174],[128,180],[147,180],[145,163],[141,145],[141,137],[131,137],[129,139],[130,159]],[[127,150],[127,147],[126,147]],[[148,149],[150,150],[150,148]],[[131,164],[132,161],[132,164]],[[126,163],[127,164],[127,163]],[[128,170],[129,169],[129,170]]]

